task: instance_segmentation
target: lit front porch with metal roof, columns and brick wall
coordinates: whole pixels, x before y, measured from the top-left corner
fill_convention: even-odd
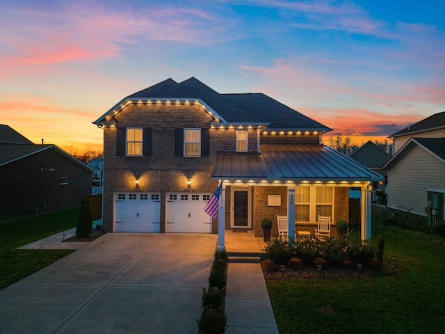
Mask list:
[[[288,235],[314,234],[319,216],[329,216],[332,236],[337,221],[349,219],[349,189],[362,192],[360,232],[371,237],[372,183],[382,177],[323,145],[261,146],[261,154],[218,154],[212,178],[220,181],[218,248],[227,244],[227,230],[252,230],[263,237],[261,221],[286,216]],[[241,232],[242,233],[242,232]],[[242,237],[239,237],[242,239]],[[236,238],[238,239],[238,237]],[[240,245],[241,246],[241,245]]]

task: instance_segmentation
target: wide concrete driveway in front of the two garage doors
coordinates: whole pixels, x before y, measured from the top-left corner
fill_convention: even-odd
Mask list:
[[[108,233],[0,291],[1,333],[197,333],[216,234]]]

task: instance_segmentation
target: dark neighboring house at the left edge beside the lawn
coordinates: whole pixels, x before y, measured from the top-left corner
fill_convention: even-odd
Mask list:
[[[93,170],[56,145],[0,125],[0,219],[79,207]]]

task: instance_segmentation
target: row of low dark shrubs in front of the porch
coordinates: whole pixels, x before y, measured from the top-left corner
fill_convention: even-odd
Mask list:
[[[358,278],[359,271],[357,265],[351,262],[343,262],[336,266],[330,266],[323,259],[316,259],[311,264],[303,264],[300,259],[292,259],[286,269],[284,269],[284,280],[319,280],[320,271],[317,265],[321,264],[321,279],[337,280],[343,278]],[[282,280],[280,264],[275,264],[271,260],[261,261],[264,278],[266,280]],[[400,270],[396,268],[396,274]],[[384,262],[379,266],[377,261],[372,261],[362,267],[361,278],[378,277],[392,275],[392,268],[389,263]]]

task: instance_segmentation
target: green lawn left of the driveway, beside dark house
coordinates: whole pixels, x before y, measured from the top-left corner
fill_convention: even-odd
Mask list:
[[[0,289],[72,253],[72,250],[19,250],[33,241],[74,228],[79,209],[0,223]]]

